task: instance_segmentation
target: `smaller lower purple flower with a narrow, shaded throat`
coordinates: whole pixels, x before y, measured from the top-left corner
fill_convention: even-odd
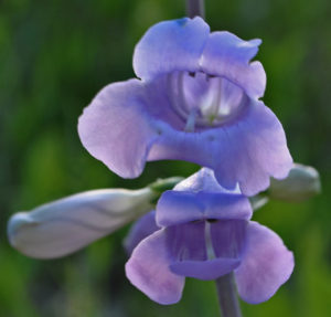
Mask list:
[[[244,300],[267,300],[289,278],[293,256],[250,216],[246,197],[225,191],[202,169],[162,194],[156,213],[161,229],[134,250],[127,277],[151,299],[173,304],[185,276],[215,279],[234,272]]]

